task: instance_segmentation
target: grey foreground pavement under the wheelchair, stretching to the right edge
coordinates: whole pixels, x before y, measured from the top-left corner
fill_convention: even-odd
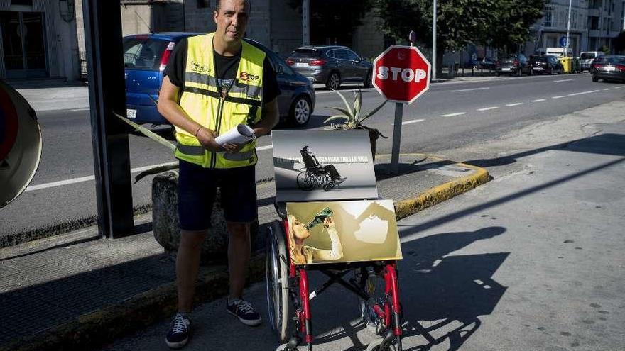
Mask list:
[[[403,350],[624,350],[624,107],[591,108],[521,130],[516,140],[483,143],[512,144],[480,160],[489,172],[511,172],[399,221]],[[600,114],[609,110],[618,117]],[[573,134],[563,123],[576,118],[586,135],[556,141]],[[263,283],[246,291],[266,321],[265,294]],[[195,309],[185,351],[277,350],[267,323],[241,325],[224,300]],[[311,304],[313,350],[363,351],[374,338],[341,287]],[[102,351],[168,350],[169,326],[160,321]]]

